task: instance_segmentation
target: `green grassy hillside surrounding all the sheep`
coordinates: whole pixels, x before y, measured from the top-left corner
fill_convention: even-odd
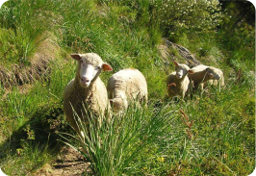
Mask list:
[[[64,88],[76,68],[69,54],[95,52],[114,68],[101,74],[105,84],[119,69],[140,69],[149,102],[142,110],[131,105],[103,129],[90,124],[94,138],[82,145],[90,146],[84,174],[251,174],[256,167],[256,24],[240,19],[231,1],[222,7],[207,2],[8,0],[2,5],[3,173],[33,175],[45,163],[53,169],[64,142],[79,148],[63,111]],[[163,38],[188,48],[200,63],[221,68],[225,87],[195,92],[185,101],[167,98],[172,60],[186,61],[173,48],[163,57]]]

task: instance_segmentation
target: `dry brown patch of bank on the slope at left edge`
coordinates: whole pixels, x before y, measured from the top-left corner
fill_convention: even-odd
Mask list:
[[[56,59],[60,53],[60,47],[54,41],[54,37],[47,34],[40,40],[37,51],[34,56],[29,59],[30,65],[13,64],[12,69],[8,69],[0,65],[0,83],[8,88],[13,85],[24,85],[35,80],[41,79],[50,72],[48,63]]]

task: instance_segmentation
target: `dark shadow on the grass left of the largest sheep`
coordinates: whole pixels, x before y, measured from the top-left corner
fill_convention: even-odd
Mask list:
[[[50,107],[48,105],[38,108],[30,120],[0,145],[0,161],[18,157],[29,150],[46,151],[51,155],[60,152],[64,143],[60,141],[63,138],[58,135],[58,132],[69,133],[72,130],[65,122],[63,108],[60,105]]]

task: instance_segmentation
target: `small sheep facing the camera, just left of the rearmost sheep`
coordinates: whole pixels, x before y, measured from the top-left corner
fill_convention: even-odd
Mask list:
[[[170,73],[166,79],[167,92],[169,97],[181,96],[185,97],[186,92],[190,89],[190,79],[188,73],[192,70],[187,64],[175,64],[175,71]]]

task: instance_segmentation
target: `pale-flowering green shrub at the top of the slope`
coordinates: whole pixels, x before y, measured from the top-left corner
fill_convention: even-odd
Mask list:
[[[218,0],[159,0],[155,6],[160,26],[170,37],[213,31],[222,15]]]

